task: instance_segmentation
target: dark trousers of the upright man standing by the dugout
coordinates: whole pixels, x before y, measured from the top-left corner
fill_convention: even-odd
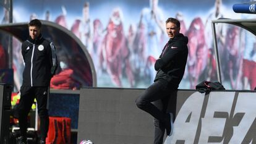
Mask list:
[[[23,137],[27,135],[27,116],[30,112],[34,99],[36,98],[38,115],[40,117],[40,137],[45,140],[49,129],[48,116],[48,93],[49,87],[27,87],[20,88],[20,102],[18,106],[19,127]]]

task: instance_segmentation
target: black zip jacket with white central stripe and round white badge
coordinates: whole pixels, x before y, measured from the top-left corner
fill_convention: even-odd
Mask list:
[[[38,36],[22,43],[24,86],[47,87],[57,67],[57,57],[53,43]]]

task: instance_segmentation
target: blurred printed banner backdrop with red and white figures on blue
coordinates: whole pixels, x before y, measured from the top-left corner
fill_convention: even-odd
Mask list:
[[[211,20],[220,17],[229,19],[254,17],[233,12],[233,4],[249,2],[245,0],[74,0],[72,2],[24,0],[13,2],[14,22],[28,22],[35,18],[50,20],[77,35],[92,56],[98,87],[148,87],[155,77],[154,63],[163,45],[168,41],[165,32],[165,20],[168,17],[179,19],[181,33],[189,37],[187,69],[179,88],[194,89],[195,85],[202,80],[215,81],[217,77]],[[4,11],[1,11],[0,19],[4,18]],[[241,33],[247,32],[229,26],[220,26],[217,29],[218,44],[221,44],[222,48],[218,47],[223,50],[220,54],[223,56],[221,61],[226,62],[226,64],[222,62],[222,73],[226,73],[223,75],[232,74],[231,77],[223,77],[224,87],[253,89],[255,87],[251,80],[253,78],[245,75],[248,70],[244,70],[241,63],[245,57],[241,54],[245,49],[243,41],[247,41],[248,37]],[[236,40],[229,40],[229,35],[233,35]],[[236,43],[239,43],[239,46],[235,49],[239,51],[228,48]],[[251,45],[250,49],[253,49],[253,46]],[[229,52],[229,59],[225,60]],[[251,52],[249,57],[254,63],[254,50]],[[237,57],[240,61],[234,63]],[[15,59],[17,58],[14,57],[13,61],[18,61]],[[229,68],[233,69],[230,73],[226,70]]]

